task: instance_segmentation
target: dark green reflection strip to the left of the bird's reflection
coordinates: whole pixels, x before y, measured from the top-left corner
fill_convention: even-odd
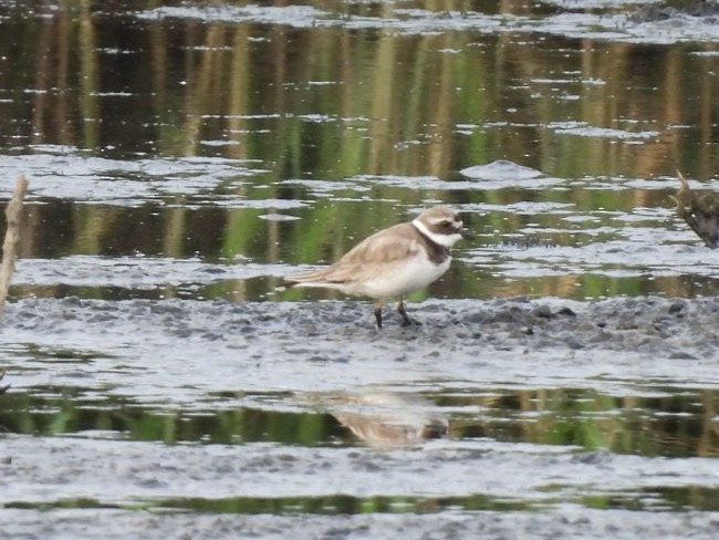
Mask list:
[[[88,434],[166,444],[351,445],[353,437],[329,414],[251,407],[163,409],[83,388],[35,387],[0,398],[0,430],[29,435]]]

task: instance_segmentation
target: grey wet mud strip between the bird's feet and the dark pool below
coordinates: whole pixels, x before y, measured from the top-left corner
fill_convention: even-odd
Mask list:
[[[2,328],[6,381],[17,388],[83,377],[111,393],[183,404],[223,390],[417,381],[719,384],[718,299],[429,300],[408,305],[420,325],[403,329],[387,312],[382,331],[371,312],[355,301],[25,299],[8,307]]]

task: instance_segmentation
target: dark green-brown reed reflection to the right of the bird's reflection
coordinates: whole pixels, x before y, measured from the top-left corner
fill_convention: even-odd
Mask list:
[[[478,405],[481,419],[450,419],[450,437],[576,445],[646,456],[717,456],[717,392],[666,397],[609,396],[588,390],[517,391],[452,398],[445,405]]]

